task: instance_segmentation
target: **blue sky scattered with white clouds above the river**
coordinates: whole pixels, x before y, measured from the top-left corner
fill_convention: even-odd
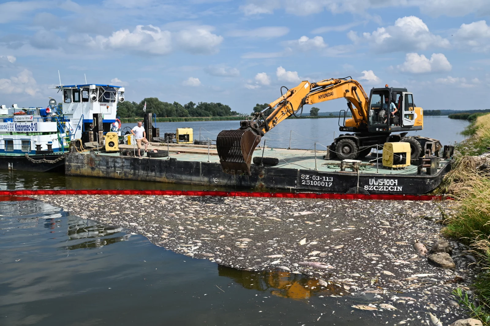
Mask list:
[[[130,101],[242,113],[281,86],[347,76],[367,93],[406,87],[425,110],[490,109],[490,0],[0,2],[0,104],[61,101],[58,70],[63,85],[86,76]]]

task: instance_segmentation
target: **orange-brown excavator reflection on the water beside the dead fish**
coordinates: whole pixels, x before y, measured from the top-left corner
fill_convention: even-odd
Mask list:
[[[270,291],[274,296],[294,300],[304,300],[319,295],[342,295],[343,290],[332,283],[321,286],[317,279],[308,279],[301,274],[282,271],[251,272],[218,265],[218,275],[233,279],[246,289]]]

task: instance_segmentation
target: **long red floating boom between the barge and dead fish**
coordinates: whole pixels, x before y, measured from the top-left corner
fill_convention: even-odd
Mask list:
[[[313,193],[313,192],[246,192],[246,191],[201,191],[201,190],[0,190],[0,201],[11,196],[33,195],[171,195],[171,196],[219,196],[219,197],[271,197],[271,198],[313,198],[313,199],[363,199],[363,200],[444,200],[445,196],[433,195],[388,195],[388,194],[356,194],[356,193]],[[19,200],[19,199],[17,199]],[[25,200],[25,199],[24,199]]]

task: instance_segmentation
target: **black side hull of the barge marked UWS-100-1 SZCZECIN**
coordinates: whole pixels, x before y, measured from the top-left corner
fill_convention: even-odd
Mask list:
[[[213,185],[251,190],[365,194],[425,194],[435,189],[451,168],[447,162],[435,175],[322,172],[281,167],[251,166],[251,176],[226,174],[219,163],[162,160],[126,156],[69,153],[67,175],[156,181],[189,185]],[[384,172],[384,173],[383,173]]]

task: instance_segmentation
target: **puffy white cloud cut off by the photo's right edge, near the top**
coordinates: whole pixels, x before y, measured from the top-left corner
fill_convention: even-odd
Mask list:
[[[474,52],[490,50],[490,26],[486,21],[462,24],[455,34],[460,47],[471,48]]]

